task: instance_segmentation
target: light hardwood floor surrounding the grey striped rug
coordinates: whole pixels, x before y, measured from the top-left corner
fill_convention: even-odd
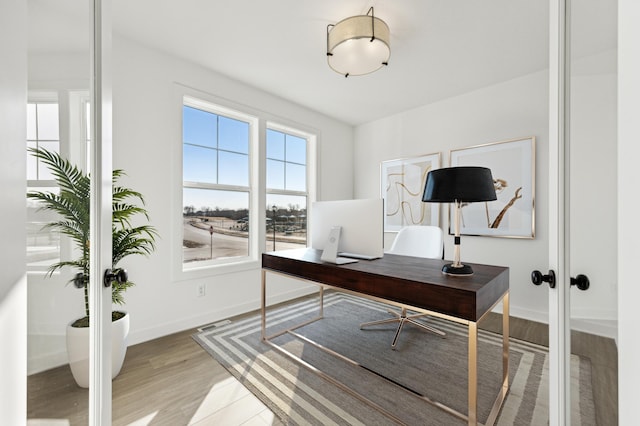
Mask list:
[[[490,315],[481,328],[501,331]],[[546,325],[512,318],[511,336],[548,344]],[[282,425],[191,338],[196,330],[129,347],[113,381],[114,425]],[[617,349],[611,339],[575,333],[573,353],[591,359],[599,425],[617,425]],[[88,391],[68,366],[28,378],[29,425],[86,425]],[[59,423],[58,423],[59,422]]]

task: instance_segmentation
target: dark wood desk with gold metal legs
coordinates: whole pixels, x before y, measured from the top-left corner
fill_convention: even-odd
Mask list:
[[[341,359],[358,365],[326,347],[296,333],[296,329],[323,316],[325,288],[380,301],[399,308],[427,313],[467,326],[468,328],[468,412],[460,413],[444,404],[420,396],[426,402],[477,425],[478,401],[478,322],[496,305],[502,303],[502,386],[495,399],[485,425],[493,425],[509,389],[509,269],[499,266],[473,264],[474,275],[450,277],[442,274],[446,263],[441,260],[385,255],[373,261],[360,261],[347,265],[333,265],[320,260],[321,252],[314,249],[296,249],[262,255],[261,314],[262,340],[273,348],[301,363],[325,380],[333,383],[365,402],[398,424],[403,422],[365,396],[353,391],[339,380],[303,361],[296,355],[271,342],[288,333]],[[299,278],[317,284],[319,290],[318,316],[273,335],[266,335],[267,272]]]

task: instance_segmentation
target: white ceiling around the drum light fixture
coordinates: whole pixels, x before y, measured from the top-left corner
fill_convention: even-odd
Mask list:
[[[82,3],[29,0],[30,49],[85,49]],[[574,54],[614,48],[616,0],[574,3]],[[327,25],[370,6],[391,30],[389,66],[345,78],[327,65]],[[114,33],[353,125],[545,69],[548,7],[543,0],[112,0]]]

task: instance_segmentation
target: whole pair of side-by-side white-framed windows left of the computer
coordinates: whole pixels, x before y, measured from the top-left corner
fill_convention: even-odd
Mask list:
[[[316,136],[189,92],[181,94],[182,212],[175,223],[182,244],[174,250],[182,259],[176,256],[175,270],[242,270],[263,250],[305,247]]]

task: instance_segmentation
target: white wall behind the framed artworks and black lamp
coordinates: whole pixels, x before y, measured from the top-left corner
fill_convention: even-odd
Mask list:
[[[606,61],[614,61],[607,55]],[[615,62],[613,62],[615,64]],[[585,158],[588,166],[576,164],[573,190],[584,199],[588,193],[603,194],[597,203],[588,201],[576,211],[574,232],[589,239],[579,240],[576,258],[584,261],[575,274],[584,273],[592,280],[589,292],[573,294],[575,317],[606,319],[613,322],[616,310],[616,274],[610,267],[596,265],[615,262],[615,250],[603,250],[616,244],[615,221],[615,74],[607,67],[604,74],[576,75],[574,85],[580,105],[573,113],[573,127],[580,136],[572,149],[576,158]],[[514,316],[547,322],[547,292],[530,282],[534,269],[544,271],[548,265],[548,78],[546,71],[425,105],[392,117],[356,128],[355,196],[370,197],[380,193],[380,162],[384,160],[442,153],[443,166],[449,165],[449,150],[498,142],[519,137],[536,137],[536,236],[533,240],[467,237],[462,238],[463,261],[489,263],[510,268],[511,312]],[[603,117],[604,115],[604,117]],[[603,143],[606,140],[606,143]],[[579,167],[578,167],[579,166]],[[594,169],[598,170],[597,179]],[[604,181],[603,181],[603,180]],[[585,182],[588,182],[588,186]],[[440,225],[448,229],[446,208],[441,208]],[[390,242],[393,235],[388,235]],[[446,256],[452,257],[453,238],[445,239]],[[581,256],[584,255],[584,256]],[[604,262],[594,262],[593,256]],[[578,264],[578,262],[576,262]],[[597,326],[574,324],[598,334],[615,335],[615,323]]]

